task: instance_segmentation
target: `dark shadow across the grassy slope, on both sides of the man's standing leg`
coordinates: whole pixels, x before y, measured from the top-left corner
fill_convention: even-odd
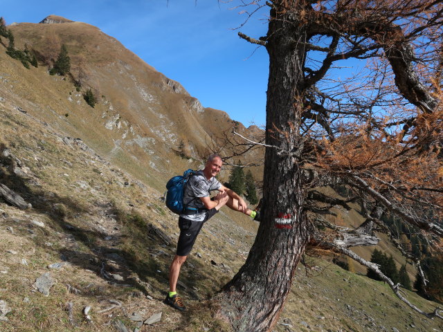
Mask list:
[[[105,232],[93,230],[87,223],[81,223],[89,214],[86,205],[70,197],[45,192],[33,180],[14,172],[17,160],[3,156],[1,152],[4,149],[6,146],[0,144],[0,183],[31,203],[33,211],[48,216],[54,225],[60,227],[66,243],[59,250],[64,261],[93,271],[109,284],[136,288],[145,295],[153,291],[168,291],[169,266],[176,246],[168,234],[148,223],[143,216],[118,210],[109,204],[106,207],[107,213],[115,216],[121,234],[112,241],[107,240],[108,234]],[[46,229],[42,229],[42,232],[47,236],[50,234]],[[44,236],[33,237],[36,246],[47,249],[45,240]],[[189,257],[181,271],[179,292],[189,299],[203,299],[204,295],[197,294],[202,279],[205,279],[206,284],[213,285],[213,289],[217,288],[220,282],[217,273],[201,274],[201,271],[208,268],[206,263]],[[94,292],[90,288],[84,294],[96,295]],[[162,301],[163,297],[158,300]],[[187,317],[183,315],[183,322],[188,320]]]

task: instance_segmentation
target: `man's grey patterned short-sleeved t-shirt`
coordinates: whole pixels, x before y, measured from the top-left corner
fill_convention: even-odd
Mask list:
[[[210,192],[218,190],[220,187],[221,183],[216,178],[212,177],[208,180],[200,170],[189,178],[183,192],[183,204],[189,208],[204,209],[205,205],[199,197],[208,197]],[[196,214],[180,214],[180,216],[192,221],[204,221],[206,211]]]

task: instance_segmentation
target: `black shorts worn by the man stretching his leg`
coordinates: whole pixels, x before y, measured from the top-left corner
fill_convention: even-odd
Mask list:
[[[211,216],[218,211],[215,208],[206,212],[206,217],[203,221],[193,221],[190,219],[179,217],[180,236],[179,243],[177,243],[177,256],[188,256],[194,246],[195,239],[199,234],[203,224],[210,219]]]

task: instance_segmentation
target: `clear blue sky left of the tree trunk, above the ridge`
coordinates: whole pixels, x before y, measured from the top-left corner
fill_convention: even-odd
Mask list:
[[[225,2],[225,3],[223,3]],[[118,39],[147,64],[180,82],[204,107],[230,118],[264,125],[269,60],[263,47],[249,44],[238,31],[266,35],[268,12],[248,23],[239,1],[217,0],[1,0],[0,16],[38,23],[48,15],[97,26]],[[252,9],[252,8],[251,8]]]

